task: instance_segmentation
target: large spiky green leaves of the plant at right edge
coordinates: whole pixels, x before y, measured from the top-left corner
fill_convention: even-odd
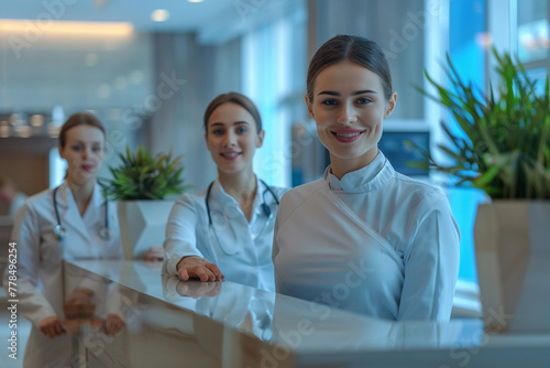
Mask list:
[[[447,107],[458,129],[441,122],[448,140],[438,147],[449,156],[449,164],[435,162],[424,151],[427,162],[415,166],[452,174],[457,185],[481,188],[493,198],[550,199],[549,78],[543,90],[537,91],[536,82],[519,62],[506,53],[493,54],[496,94],[490,86],[491,93],[484,96],[471,82],[464,83],[449,55],[444,68],[449,87],[425,72],[437,93],[418,89]]]

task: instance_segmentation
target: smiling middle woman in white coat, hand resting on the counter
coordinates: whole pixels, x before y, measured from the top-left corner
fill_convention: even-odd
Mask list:
[[[248,97],[222,94],[207,107],[204,125],[218,177],[174,205],[164,273],[184,281],[226,278],[273,291],[273,225],[284,190],[268,186],[252,169],[265,134],[260,113]]]

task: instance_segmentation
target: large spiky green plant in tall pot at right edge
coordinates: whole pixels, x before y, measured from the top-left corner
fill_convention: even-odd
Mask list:
[[[549,332],[550,318],[550,93],[509,54],[496,58],[498,89],[486,95],[462,80],[447,57],[446,87],[425,73],[426,96],[454,117],[439,144],[449,161],[425,152],[425,167],[449,173],[457,185],[485,191],[474,229],[485,326],[492,332]]]

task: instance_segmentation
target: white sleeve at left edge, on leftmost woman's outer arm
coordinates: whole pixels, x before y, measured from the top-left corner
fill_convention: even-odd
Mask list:
[[[16,242],[16,299],[21,313],[35,326],[45,317],[56,315],[46,297],[37,290],[40,270],[41,230],[38,215],[23,205],[15,217],[12,241]],[[9,291],[9,269],[3,285]],[[9,299],[12,299],[8,294]]]

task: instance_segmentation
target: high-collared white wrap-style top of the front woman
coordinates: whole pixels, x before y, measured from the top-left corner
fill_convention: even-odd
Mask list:
[[[396,173],[382,152],[280,202],[277,292],[387,320],[450,318],[459,229],[442,191]]]

